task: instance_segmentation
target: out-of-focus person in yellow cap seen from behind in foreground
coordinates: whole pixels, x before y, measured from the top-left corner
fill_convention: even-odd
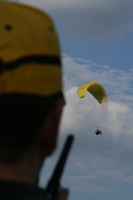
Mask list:
[[[0,199],[42,200],[44,159],[56,148],[64,99],[52,20],[38,9],[0,2]],[[67,189],[56,199],[66,200]]]

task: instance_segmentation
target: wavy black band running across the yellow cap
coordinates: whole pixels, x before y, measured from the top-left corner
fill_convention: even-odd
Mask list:
[[[27,64],[27,63],[40,63],[40,64],[49,64],[49,65],[57,65],[61,67],[61,60],[58,56],[27,56],[23,58],[19,58],[18,60],[2,63],[0,62],[0,73],[4,70],[12,70],[20,65]]]

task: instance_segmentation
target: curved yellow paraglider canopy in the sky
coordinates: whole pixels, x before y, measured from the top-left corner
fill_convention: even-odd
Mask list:
[[[91,93],[91,95],[101,104],[105,105],[108,102],[108,97],[105,89],[100,83],[97,82],[89,82],[79,86],[78,88],[78,96],[83,98],[86,94],[86,91]]]

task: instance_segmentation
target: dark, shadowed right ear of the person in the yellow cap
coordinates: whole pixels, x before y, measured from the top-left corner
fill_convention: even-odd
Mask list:
[[[54,109],[48,114],[48,117],[43,125],[40,137],[40,147],[43,157],[51,155],[56,148],[63,105],[63,100],[59,99],[56,102]]]

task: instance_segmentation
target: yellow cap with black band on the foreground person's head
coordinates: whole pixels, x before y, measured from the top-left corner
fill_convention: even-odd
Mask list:
[[[0,94],[48,96],[61,90],[53,21],[36,8],[0,2]]]

